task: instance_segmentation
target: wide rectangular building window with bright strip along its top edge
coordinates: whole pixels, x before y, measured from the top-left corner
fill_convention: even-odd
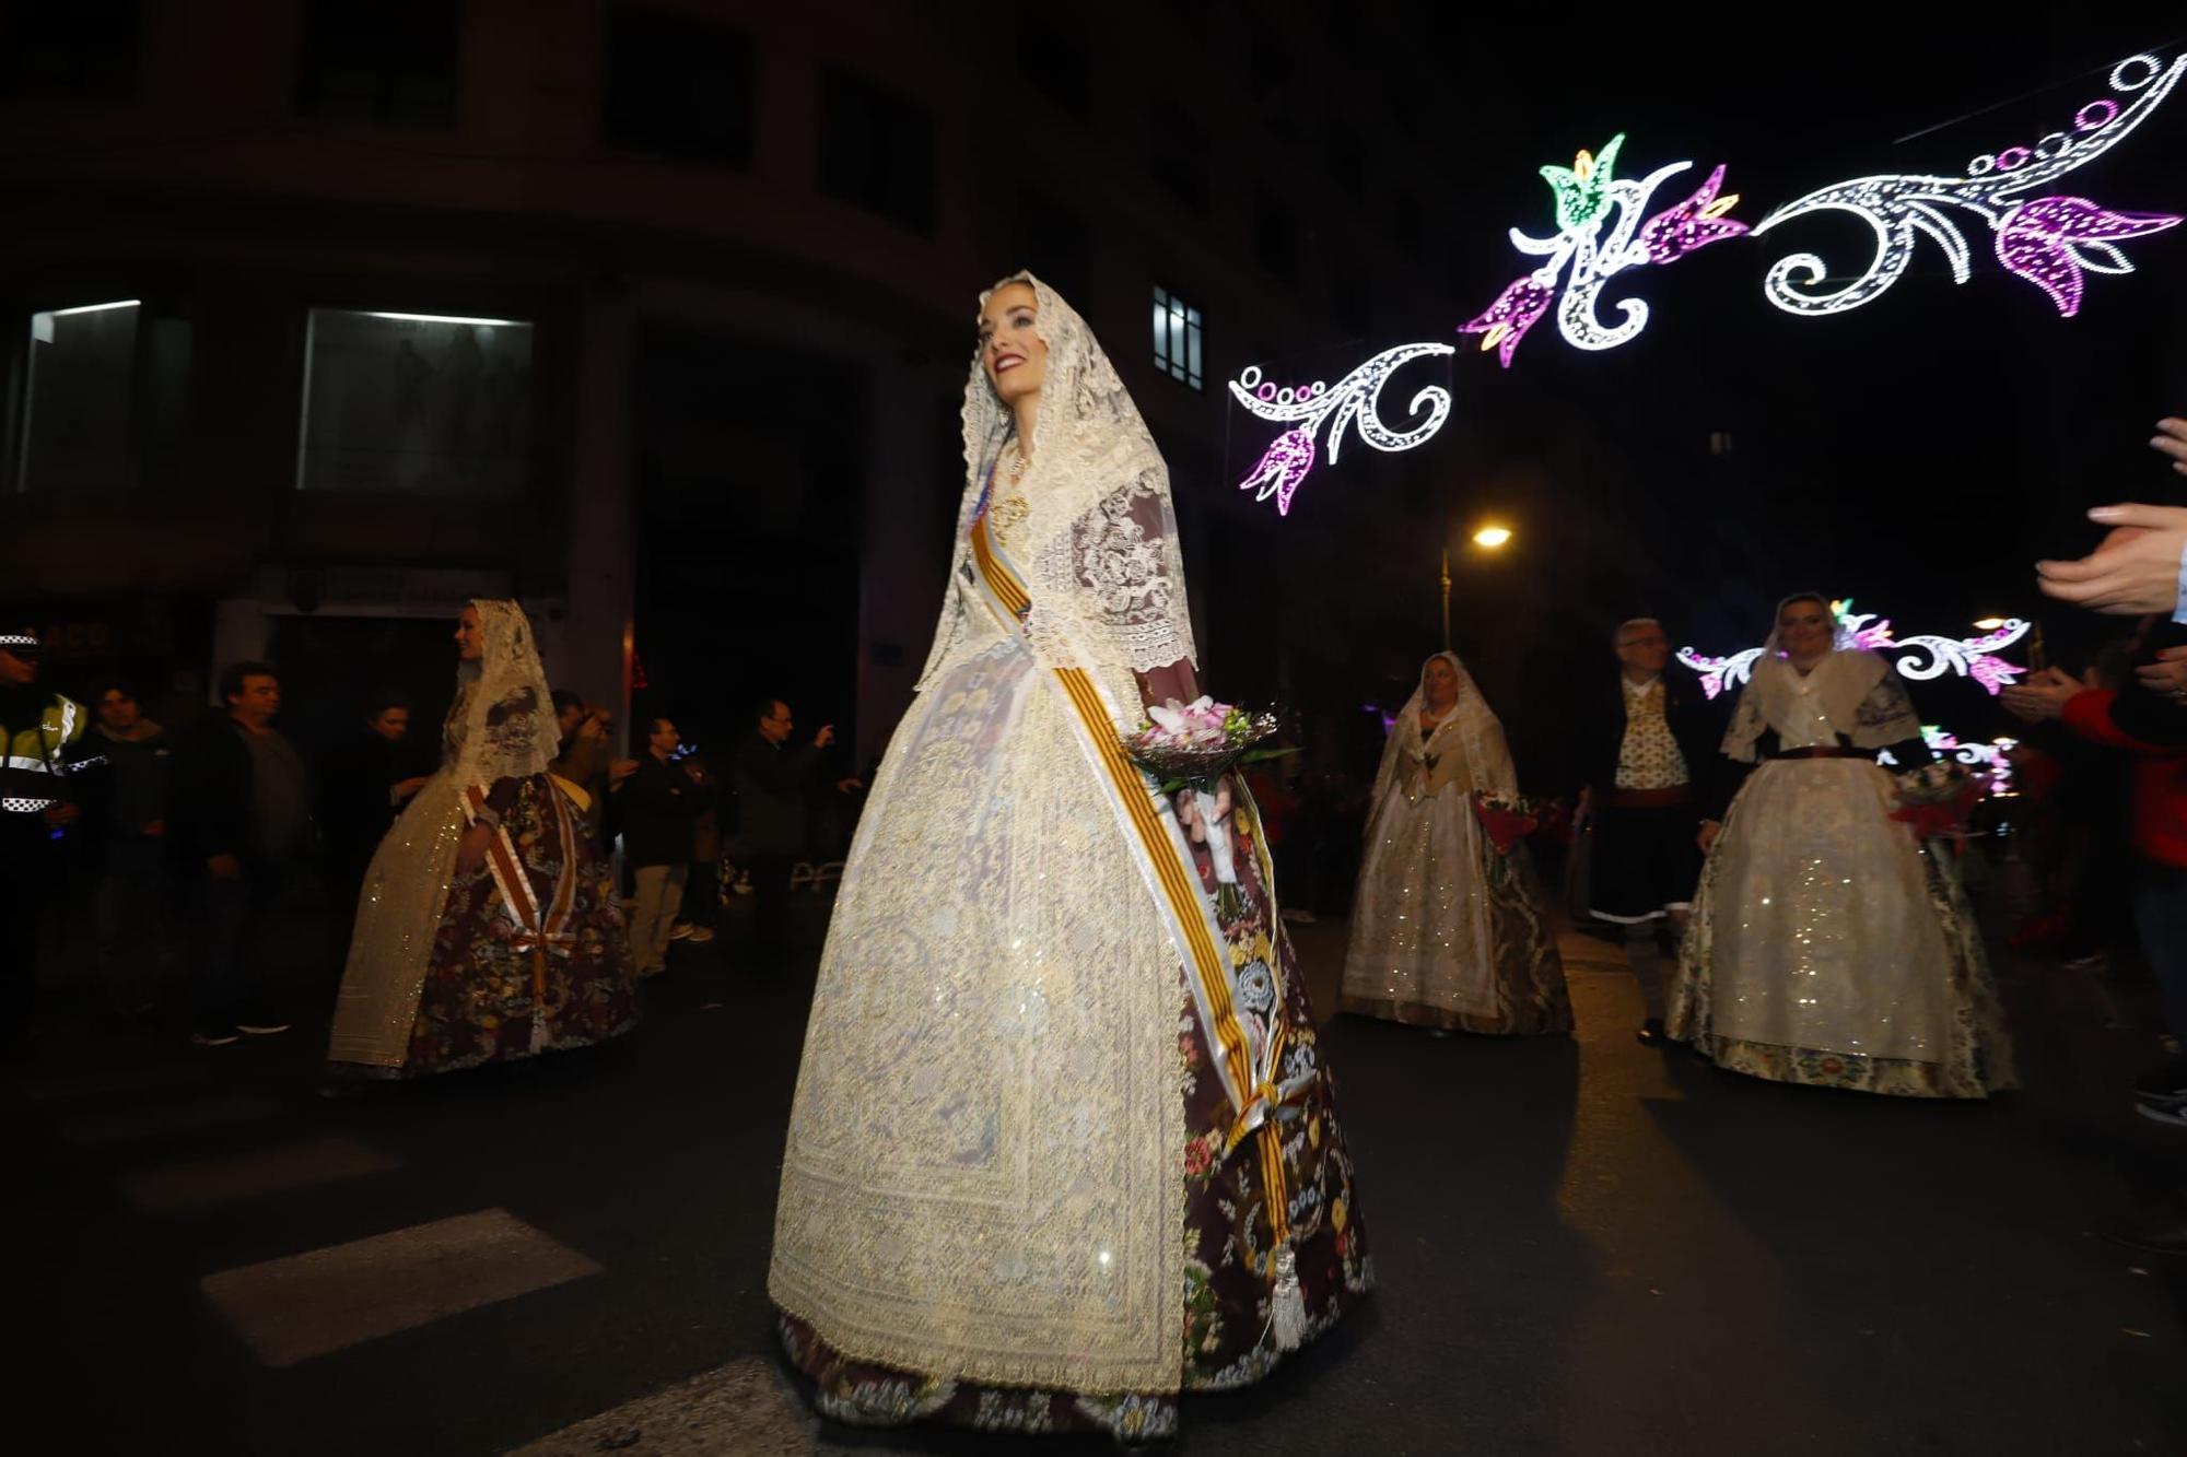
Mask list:
[[[514,497],[531,479],[531,324],[313,308],[297,490]]]

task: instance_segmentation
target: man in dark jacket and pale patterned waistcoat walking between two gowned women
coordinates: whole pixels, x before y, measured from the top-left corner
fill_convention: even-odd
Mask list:
[[[1701,687],[1671,678],[1671,639],[1653,617],[1618,623],[1616,696],[1590,715],[1586,790],[1579,799],[1588,855],[1588,914],[1625,930],[1640,982],[1640,1041],[1664,1044],[1662,945],[1675,941],[1701,877],[1701,785],[1717,733]]]

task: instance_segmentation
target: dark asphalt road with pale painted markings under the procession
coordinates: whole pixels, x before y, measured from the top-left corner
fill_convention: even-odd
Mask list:
[[[1341,936],[1301,934],[1323,1006]],[[2187,1262],[2089,1234],[2187,1177],[2187,1135],[2126,1111],[2148,1033],[2023,969],[2027,1092],[1789,1089],[1636,1046],[1629,980],[1566,947],[1575,1041],[1332,1024],[1382,1289],[1188,1402],[1181,1450],[2187,1453]],[[803,1015],[680,949],[623,1046],[335,1105],[324,1017],[195,1050],[63,1006],[0,1092],[4,1446],[1017,1450],[822,1429],[772,1361]]]

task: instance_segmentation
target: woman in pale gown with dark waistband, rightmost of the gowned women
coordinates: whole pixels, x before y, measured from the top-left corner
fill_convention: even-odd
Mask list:
[[[1839,643],[1822,597],[1787,597],[1723,753],[1754,768],[1701,831],[1671,1035],[1778,1083],[2010,1087],[1975,917],[1946,851],[1892,818],[1898,783],[1876,766],[1931,761],[1898,669]]]

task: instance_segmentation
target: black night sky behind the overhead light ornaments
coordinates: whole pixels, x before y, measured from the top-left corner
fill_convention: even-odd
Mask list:
[[[1793,48],[1785,37],[1809,15]],[[1448,66],[1446,96],[1411,109],[1446,138],[1450,195],[1481,219],[1459,230],[1467,252],[1450,263],[1454,284],[1485,308],[1533,267],[1505,232],[1555,228],[1535,168],[1568,166],[1618,131],[1621,175],[1695,162],[1651,208],[1726,162],[1734,217],[1754,223],[1850,177],[1957,175],[1975,153],[2034,144],[2113,94],[2117,59],[2178,50],[2161,28],[2102,15],[2069,35],[1970,20],[1894,15],[1885,28],[1874,13],[1771,9],[1743,26],[1636,20],[1522,37],[1509,20],[1437,7],[1422,50],[1472,59]],[[2187,101],[2174,96],[2058,190],[2119,210],[2187,210],[2183,147]],[[1511,518],[1524,558],[1476,564],[1472,580],[1461,567],[1454,637],[1492,698],[1505,693],[1516,739],[1555,737],[1557,704],[1535,691],[1535,669],[1603,663],[1607,623],[1640,610],[1662,615],[1673,641],[1717,652],[1761,641],[1769,606],[1793,588],[1852,597],[1901,634],[2040,615],[2067,665],[2117,626],[2043,610],[2032,562],[2095,543],[2086,505],[2176,494],[2178,477],[2145,440],[2159,416],[2187,409],[2187,228],[2128,241],[2139,271],[2091,273],[2080,317],[2062,319],[2003,271],[1981,219],[1957,217],[1975,254],[1964,287],[1922,238],[1881,300],[1787,315],[1763,295],[1769,263],[1817,252],[1835,278],[1872,249],[1850,219],[1800,219],[1621,276],[1601,313],[1638,295],[1653,317],[1618,350],[1575,350],[1544,317],[1502,372],[1476,339],[1457,339],[1452,424],[1428,446],[1443,514]],[[1402,337],[1448,339],[1463,317],[1422,311]],[[1389,392],[1393,418],[1408,394]],[[1231,422],[1242,464],[1244,446],[1266,438],[1249,424]],[[1712,431],[1732,435],[1730,455],[1710,455]],[[1382,549],[1387,560],[1387,534]],[[1422,641],[1432,645],[1432,560],[1406,571],[1426,584]],[[1920,707],[1960,733],[2008,726],[1964,683],[1922,689]]]

